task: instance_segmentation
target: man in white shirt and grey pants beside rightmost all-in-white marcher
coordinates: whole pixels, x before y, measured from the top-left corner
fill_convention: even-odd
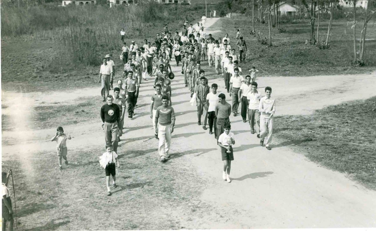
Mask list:
[[[255,125],[257,138],[260,138],[260,105],[261,94],[257,91],[257,83],[251,83],[251,91],[247,94],[248,101],[248,120],[251,127],[251,134],[255,134]]]

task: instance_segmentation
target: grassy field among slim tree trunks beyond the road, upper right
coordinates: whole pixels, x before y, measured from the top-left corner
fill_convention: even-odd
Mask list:
[[[249,17],[235,17],[221,19],[223,33],[229,33],[230,41],[236,41],[237,29],[241,29],[247,42],[248,52],[246,62],[241,67],[255,66],[260,75],[268,76],[312,76],[327,74],[356,74],[366,73],[376,68],[376,40],[366,42],[366,66],[353,67],[352,61],[352,33],[351,26],[346,20],[335,20],[332,25],[330,49],[320,50],[318,47],[305,44],[309,39],[309,21],[297,20],[282,24],[286,32],[280,33],[272,28],[272,47],[262,45],[256,37],[250,35],[252,22]],[[320,22],[320,39],[323,40],[327,31],[327,20]],[[255,29],[269,36],[267,23],[255,22]],[[376,30],[367,30],[367,38],[374,38]],[[235,43],[231,43],[235,46]]]

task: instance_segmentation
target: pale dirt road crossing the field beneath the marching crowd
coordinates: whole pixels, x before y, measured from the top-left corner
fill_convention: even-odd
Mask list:
[[[213,33],[216,38],[222,35],[220,21],[217,20],[208,18],[206,23],[207,33]],[[260,147],[259,139],[250,134],[249,124],[243,123],[240,115],[230,117],[237,143],[230,174],[232,182],[223,181],[223,163],[214,134],[209,135],[208,130],[197,125],[196,107],[189,104],[190,94],[183,85],[181,67],[175,67],[174,62],[172,64],[176,74],[172,83],[172,102],[177,119],[170,161],[177,161],[174,156],[179,156],[182,163],[190,163],[191,170],[206,181],[206,187],[197,199],[218,211],[218,214],[203,212],[201,217],[194,220],[177,215],[176,219],[182,226],[188,229],[376,226],[375,191],[365,189],[342,173],[317,166],[302,154],[291,151],[284,143],[274,140],[271,151]],[[208,70],[208,65],[203,69]],[[210,72],[207,76],[209,85],[217,83],[218,90],[224,92],[224,82],[220,76]],[[327,105],[376,95],[372,89],[376,86],[376,72],[352,76],[262,76],[257,82],[260,90],[266,86],[273,88],[272,97],[277,102],[276,115],[309,114]],[[8,106],[3,108],[3,114],[11,115],[18,121],[14,131],[2,132],[3,160],[9,160],[11,153],[17,153],[24,168],[29,169],[30,173],[37,171],[35,166],[29,164],[27,157],[32,157],[32,153],[36,152],[53,152],[54,146],[47,141],[49,135],[54,134],[54,129],[29,129],[32,108],[42,102],[43,105],[55,102],[74,104],[79,97],[99,96],[99,88],[50,94],[3,92],[3,105]],[[136,108],[134,118],[124,123],[127,128],[131,127],[126,134],[137,132],[132,132],[130,140],[126,138],[125,142],[122,141],[121,149],[131,141],[147,140],[153,135],[149,116],[149,96],[152,92],[152,81],[142,84],[138,104],[143,106]],[[227,93],[226,97],[230,100]],[[20,110],[23,113],[19,113]],[[65,129],[74,135],[69,142],[70,149],[81,148],[83,144],[86,147],[102,145],[100,124],[98,119],[94,123],[67,126]],[[10,142],[7,145],[4,140],[18,140],[20,143]],[[155,164],[160,164],[157,161],[158,153],[148,155],[155,156]]]

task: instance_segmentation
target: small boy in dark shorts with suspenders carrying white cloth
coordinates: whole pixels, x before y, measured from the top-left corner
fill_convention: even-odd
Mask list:
[[[106,173],[107,196],[111,196],[110,175],[112,176],[112,186],[114,186],[114,188],[117,187],[115,176],[115,162],[117,163],[117,167],[120,167],[118,155],[116,154],[116,152],[112,151],[111,146],[106,146],[106,152],[103,153],[100,157],[99,163],[100,166],[102,166],[105,169]]]

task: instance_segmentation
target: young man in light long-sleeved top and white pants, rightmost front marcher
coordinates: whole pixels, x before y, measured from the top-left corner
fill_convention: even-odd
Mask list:
[[[260,115],[260,145],[264,145],[268,150],[271,150],[270,143],[273,135],[273,115],[276,112],[276,100],[271,99],[271,87],[265,87],[265,95],[261,98],[259,104]]]

